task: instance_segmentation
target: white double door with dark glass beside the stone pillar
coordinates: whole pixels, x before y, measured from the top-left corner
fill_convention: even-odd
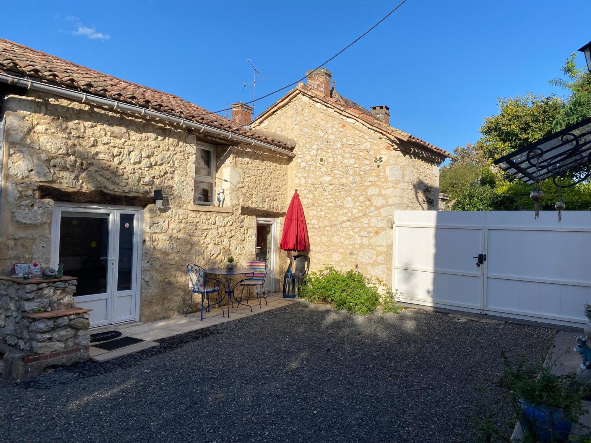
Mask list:
[[[74,300],[90,326],[137,320],[142,210],[56,203],[51,263],[78,278]]]

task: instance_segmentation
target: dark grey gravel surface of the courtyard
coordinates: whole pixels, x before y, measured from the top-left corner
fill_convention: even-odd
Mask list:
[[[0,384],[4,441],[472,442],[474,386],[554,331],[296,303]],[[2,383],[2,382],[0,382]],[[494,389],[494,388],[493,388]]]

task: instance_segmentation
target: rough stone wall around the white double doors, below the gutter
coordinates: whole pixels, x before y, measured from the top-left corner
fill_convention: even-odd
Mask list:
[[[222,265],[233,255],[243,265],[254,258],[256,217],[241,215],[242,207],[285,210],[290,159],[284,154],[217,146],[215,186],[225,188],[226,201],[216,210],[193,204],[195,134],[41,93],[9,95],[2,109],[0,269],[5,275],[17,261],[50,265],[54,202],[39,198],[41,184],[142,196],[163,190],[168,205],[144,210],[143,321],[183,312],[189,304],[187,263]]]

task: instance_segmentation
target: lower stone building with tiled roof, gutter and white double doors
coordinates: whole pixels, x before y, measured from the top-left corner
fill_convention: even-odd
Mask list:
[[[236,108],[245,119],[248,106]],[[64,263],[92,326],[184,312],[187,263],[268,259],[267,289],[278,288],[285,142],[0,40],[0,154],[1,275]],[[9,295],[0,288],[0,341]]]

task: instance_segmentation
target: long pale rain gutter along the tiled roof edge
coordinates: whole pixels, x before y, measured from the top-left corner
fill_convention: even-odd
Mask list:
[[[186,126],[187,128],[199,129],[199,132],[204,132],[213,136],[223,137],[228,141],[248,143],[251,146],[254,145],[259,146],[259,148],[265,148],[271,151],[281,152],[281,154],[288,155],[289,157],[295,157],[296,155],[293,152],[288,151],[287,149],[283,149],[265,142],[260,142],[258,140],[243,135],[238,135],[229,131],[225,131],[223,129],[212,128],[211,126],[202,125],[201,123],[195,123],[191,120],[178,118],[165,112],[159,112],[152,109],[142,108],[141,106],[137,105],[129,105],[128,103],[122,103],[118,100],[106,99],[105,97],[99,97],[96,95],[87,94],[85,92],[74,91],[72,89],[67,89],[61,86],[54,86],[52,84],[36,82],[35,80],[24,79],[22,77],[15,77],[2,72],[0,72],[0,82],[7,83],[12,86],[21,86],[27,89],[33,89],[40,92],[46,92],[49,94],[66,97],[67,99],[75,100],[76,102],[93,103],[95,105],[112,108],[113,110],[131,112],[139,116],[154,117],[160,120],[165,120],[167,122],[177,123],[177,125]]]

